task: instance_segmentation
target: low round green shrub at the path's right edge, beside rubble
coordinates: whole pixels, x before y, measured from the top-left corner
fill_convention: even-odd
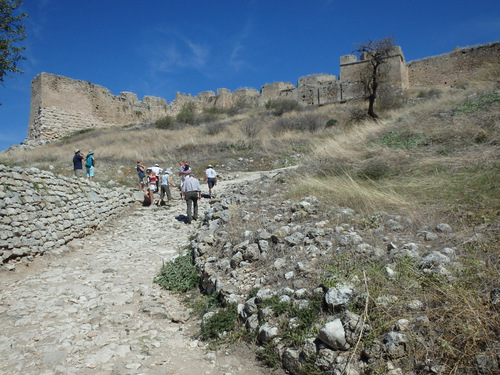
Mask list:
[[[154,282],[176,293],[195,288],[199,283],[199,276],[192,256],[182,255],[164,264]]]

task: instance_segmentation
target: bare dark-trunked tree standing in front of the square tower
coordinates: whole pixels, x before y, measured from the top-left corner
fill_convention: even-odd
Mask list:
[[[357,48],[353,51],[358,56],[362,56],[363,60],[368,61],[369,65],[363,71],[361,82],[364,85],[368,100],[368,115],[372,119],[377,119],[378,116],[374,111],[375,99],[377,98],[377,89],[383,80],[381,67],[387,62],[390,52],[394,47],[392,37],[387,37],[380,40],[369,40],[367,43],[357,44]]]

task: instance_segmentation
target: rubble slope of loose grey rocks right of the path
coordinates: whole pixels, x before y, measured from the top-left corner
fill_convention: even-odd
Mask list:
[[[237,304],[262,356],[277,356],[291,374],[306,374],[310,366],[335,374],[370,373],[373,366],[407,373],[402,359],[412,356],[411,345],[433,345],[428,302],[411,292],[369,296],[367,283],[418,290],[417,280],[455,282],[451,271],[462,265],[452,227],[417,228],[382,212],[365,217],[324,207],[313,196],[283,200],[283,181],[266,176],[235,186],[205,212],[192,241],[202,288],[219,293],[224,304]],[[381,280],[367,280],[366,267],[378,267],[371,277]],[[368,306],[401,318],[374,332]],[[310,319],[314,328],[307,330]],[[358,347],[369,335],[370,343]],[[445,368],[436,357],[416,366],[428,373]]]

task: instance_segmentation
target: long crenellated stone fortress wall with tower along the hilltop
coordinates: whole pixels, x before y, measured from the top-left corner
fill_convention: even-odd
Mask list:
[[[385,87],[404,94],[408,89],[446,87],[470,81],[485,64],[500,63],[500,42],[468,48],[406,63],[400,47],[388,58]],[[166,99],[122,92],[116,96],[105,87],[49,73],[41,73],[31,84],[31,108],[27,144],[57,140],[79,130],[152,121],[176,115],[189,102],[197,110],[228,109],[238,104],[264,106],[270,100],[291,99],[303,106],[339,103],[365,97],[361,75],[369,61],[365,56],[340,57],[340,77],[314,74],[289,82],[265,84],[261,90],[218,89],[196,96],[177,92],[170,104]]]

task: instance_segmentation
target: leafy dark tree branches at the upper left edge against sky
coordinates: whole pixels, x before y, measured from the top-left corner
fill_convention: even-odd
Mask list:
[[[18,12],[22,0],[0,0],[0,83],[9,73],[23,73],[18,63],[26,58],[19,42],[26,38],[23,19],[28,15]]]

